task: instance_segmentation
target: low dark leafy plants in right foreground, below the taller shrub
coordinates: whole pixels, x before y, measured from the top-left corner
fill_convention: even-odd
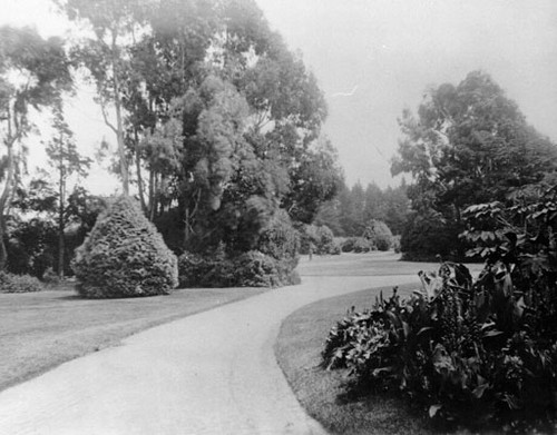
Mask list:
[[[323,365],[346,368],[359,388],[402,393],[438,422],[517,431],[549,422],[555,329],[526,305],[511,270],[488,264],[472,283],[465,266],[444,263],[420,278],[407,298],[394,289],[369,310],[352,309],[331,329]]]

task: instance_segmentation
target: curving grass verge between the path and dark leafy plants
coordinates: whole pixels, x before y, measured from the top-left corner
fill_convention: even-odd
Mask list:
[[[401,286],[408,294],[416,285]],[[346,394],[346,372],[319,367],[331,327],[346,310],[370,308],[375,295],[390,287],[334,297],[307,305],[281,326],[275,355],[289,384],[307,414],[333,434],[432,434],[428,422],[397,397],[354,397]]]

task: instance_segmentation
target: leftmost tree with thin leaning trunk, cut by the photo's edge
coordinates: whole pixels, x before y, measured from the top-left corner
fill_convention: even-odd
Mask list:
[[[16,147],[32,130],[30,109],[51,106],[70,90],[69,62],[59,38],[42,39],[35,29],[0,28],[0,123],[6,155],[1,161],[0,269],[6,267],[6,214],[19,164]],[[23,149],[25,151],[25,149]]]

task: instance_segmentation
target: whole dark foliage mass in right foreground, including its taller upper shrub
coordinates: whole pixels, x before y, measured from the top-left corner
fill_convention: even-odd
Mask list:
[[[330,368],[360,386],[403,392],[431,417],[487,429],[550,431],[557,409],[556,188],[529,188],[514,205],[469,207],[472,283],[462,265],[420,273],[423,289],[394,291],[350,313],[330,333]]]

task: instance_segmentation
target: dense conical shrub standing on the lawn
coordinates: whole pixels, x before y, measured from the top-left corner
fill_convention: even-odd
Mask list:
[[[176,256],[125,196],[97,218],[72,267],[77,291],[90,298],[167,295],[178,284]]]

